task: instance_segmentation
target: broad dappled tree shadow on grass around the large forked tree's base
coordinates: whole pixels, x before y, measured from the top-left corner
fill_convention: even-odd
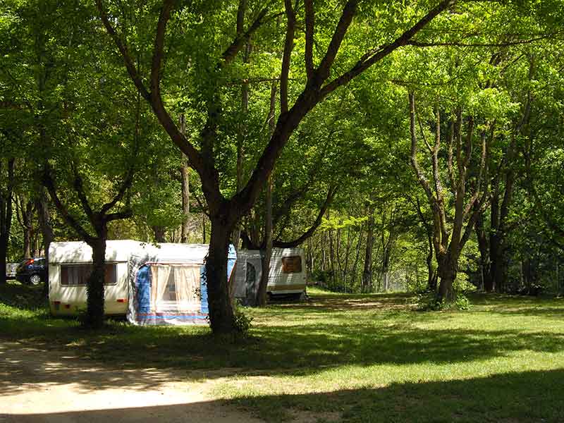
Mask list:
[[[0,338],[33,343],[39,349],[58,349],[61,354],[73,352],[97,360],[109,370],[154,367],[165,372],[171,368],[197,371],[186,373],[185,379],[203,377],[204,369],[207,379],[233,372],[303,375],[348,364],[448,364],[505,357],[517,351],[564,350],[564,333],[559,331],[421,329],[414,322],[471,316],[398,311],[398,304],[406,298],[410,296],[327,296],[315,298],[309,305],[257,310],[254,313],[260,323],[252,329],[252,337],[238,343],[218,341],[204,327],[135,327],[113,322],[102,331],[83,331],[75,321],[47,319],[43,314],[32,314],[31,318],[0,314]],[[34,353],[29,357],[35,360]],[[43,375],[47,382],[56,379],[56,373]],[[122,383],[116,379],[116,384]],[[0,386],[0,393],[9,388]]]

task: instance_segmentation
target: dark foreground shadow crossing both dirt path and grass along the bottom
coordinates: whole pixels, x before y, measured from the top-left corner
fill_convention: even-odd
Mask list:
[[[9,414],[7,423],[210,421],[246,422],[562,422],[564,370],[498,374],[455,381],[421,381],[333,392],[250,396],[173,405],[123,407],[80,412]],[[243,413],[230,414],[229,405]]]

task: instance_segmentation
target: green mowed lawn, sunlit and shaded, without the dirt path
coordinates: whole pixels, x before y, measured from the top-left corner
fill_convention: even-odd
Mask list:
[[[0,339],[180,369],[269,422],[564,422],[564,300],[474,294],[469,311],[418,312],[413,295],[309,294],[245,309],[251,336],[232,343],[120,321],[82,331],[50,318],[37,288],[10,283]]]

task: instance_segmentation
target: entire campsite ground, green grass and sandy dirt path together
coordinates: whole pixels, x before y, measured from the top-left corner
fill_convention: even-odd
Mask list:
[[[465,312],[417,312],[414,295],[309,290],[309,302],[245,309],[250,338],[226,343],[202,327],[83,331],[50,318],[38,293],[0,286],[10,423],[80,410],[81,422],[564,421],[559,298],[474,294]]]

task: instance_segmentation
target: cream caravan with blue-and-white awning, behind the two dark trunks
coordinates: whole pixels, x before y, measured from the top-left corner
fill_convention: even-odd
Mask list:
[[[133,324],[207,324],[204,259],[208,245],[134,240],[106,243],[104,312],[127,314]],[[227,276],[235,266],[230,247]],[[84,242],[51,243],[49,306],[52,314],[76,315],[86,308],[92,249]]]

